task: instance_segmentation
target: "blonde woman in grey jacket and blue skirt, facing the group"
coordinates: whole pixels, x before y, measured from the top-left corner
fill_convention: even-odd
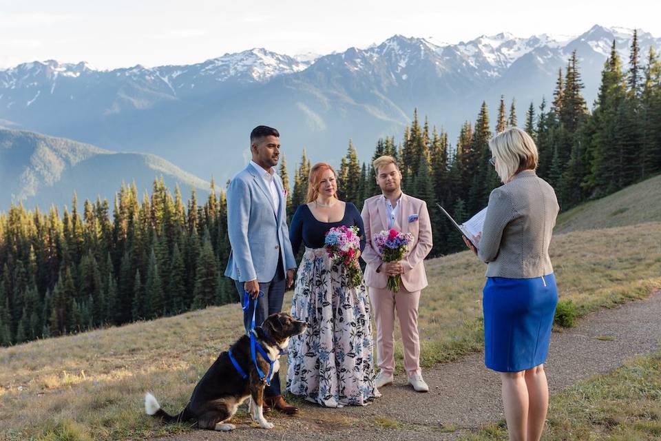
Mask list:
[[[549,403],[544,362],[558,302],[549,243],[560,207],[535,172],[537,147],[512,127],[489,143],[503,185],[489,196],[470,247],[488,264],[483,289],[485,365],[501,373],[510,440],[541,438]]]

